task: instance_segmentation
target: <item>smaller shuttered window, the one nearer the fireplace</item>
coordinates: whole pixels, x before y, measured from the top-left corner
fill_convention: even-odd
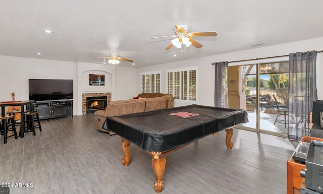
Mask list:
[[[141,93],[160,93],[160,72],[141,73]]]

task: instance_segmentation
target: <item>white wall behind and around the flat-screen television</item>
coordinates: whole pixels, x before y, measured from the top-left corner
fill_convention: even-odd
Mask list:
[[[12,92],[15,100],[28,100],[28,79],[71,79],[76,88],[76,63],[0,55],[0,79],[0,101],[12,100]]]

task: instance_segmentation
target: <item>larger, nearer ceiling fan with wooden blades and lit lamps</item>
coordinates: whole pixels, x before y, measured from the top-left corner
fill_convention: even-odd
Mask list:
[[[187,25],[176,25],[175,26],[175,34],[170,36],[159,36],[159,37],[152,37],[148,39],[155,39],[155,38],[165,38],[165,37],[176,37],[172,40],[172,42],[165,48],[165,50],[170,49],[173,45],[177,48],[182,48],[182,43],[188,47],[189,45],[193,45],[196,48],[201,48],[203,45],[194,40],[192,37],[194,36],[217,36],[217,32],[188,32]]]

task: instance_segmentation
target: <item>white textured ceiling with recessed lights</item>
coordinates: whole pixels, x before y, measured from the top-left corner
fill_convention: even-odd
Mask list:
[[[150,66],[322,37],[322,9],[321,0],[1,0],[0,55],[100,63],[117,51],[135,62],[120,66]],[[195,37],[203,47],[183,52],[165,50],[172,38],[147,39],[182,24],[218,36]]]

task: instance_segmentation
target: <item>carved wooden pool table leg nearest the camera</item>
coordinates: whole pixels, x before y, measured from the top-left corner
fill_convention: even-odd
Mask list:
[[[151,152],[151,154],[153,155],[151,159],[152,169],[156,177],[154,187],[155,187],[156,193],[160,193],[164,187],[166,157],[165,156],[159,157],[159,155],[161,154],[160,152]]]

